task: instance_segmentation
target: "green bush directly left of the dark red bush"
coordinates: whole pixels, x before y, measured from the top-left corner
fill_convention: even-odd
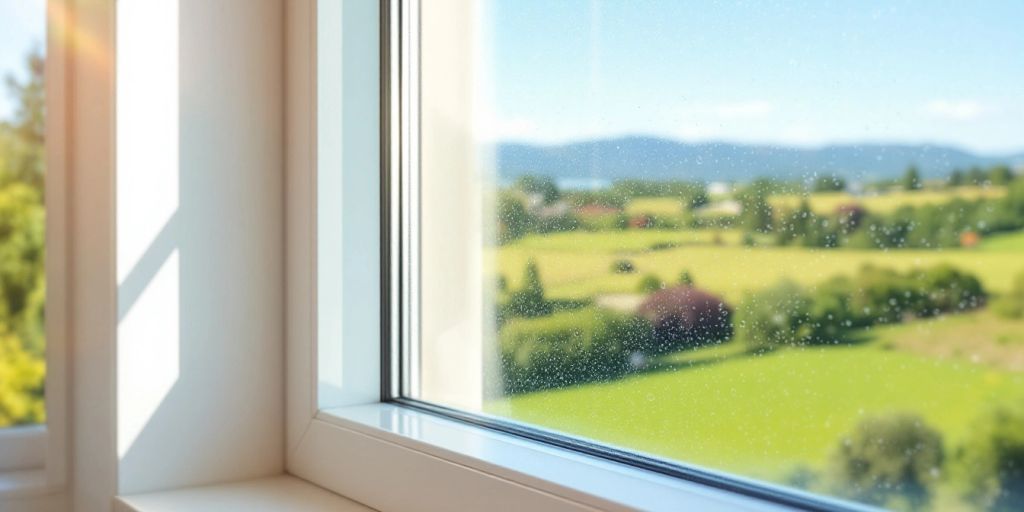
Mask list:
[[[630,354],[652,345],[645,319],[604,309],[578,309],[510,321],[499,336],[506,394],[614,379]]]

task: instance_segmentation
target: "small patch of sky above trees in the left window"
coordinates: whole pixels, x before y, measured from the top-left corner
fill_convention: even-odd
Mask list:
[[[45,0],[0,0],[0,78],[10,74],[25,77],[25,55],[33,45],[43,47],[45,9]],[[0,119],[8,119],[13,109],[6,87],[2,87]]]

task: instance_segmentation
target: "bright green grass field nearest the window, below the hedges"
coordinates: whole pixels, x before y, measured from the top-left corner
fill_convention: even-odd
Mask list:
[[[992,324],[949,322],[979,319]],[[778,481],[800,465],[820,469],[864,416],[918,413],[954,446],[988,404],[1024,396],[1024,374],[895,346],[907,329],[876,329],[872,341],[856,346],[764,355],[732,342],[677,354],[662,370],[612,383],[496,401],[488,412]],[[1017,352],[1024,348],[1019,338],[1013,343]]]

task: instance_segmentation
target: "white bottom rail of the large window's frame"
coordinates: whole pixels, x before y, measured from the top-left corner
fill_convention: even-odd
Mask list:
[[[390,403],[322,411],[290,469],[381,510],[790,510]]]

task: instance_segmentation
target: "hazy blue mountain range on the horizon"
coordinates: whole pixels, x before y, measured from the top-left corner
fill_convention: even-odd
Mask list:
[[[498,172],[513,179],[546,174],[558,179],[622,178],[743,181],[754,177],[797,180],[821,174],[847,179],[899,176],[910,164],[926,177],[954,168],[997,163],[1024,164],[1024,154],[993,158],[941,145],[836,144],[816,148],[729,142],[680,142],[656,137],[621,137],[562,145],[499,144]]]

